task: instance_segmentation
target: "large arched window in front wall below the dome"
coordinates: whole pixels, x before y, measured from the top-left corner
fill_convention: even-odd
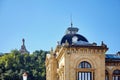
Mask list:
[[[87,61],[83,61],[78,66],[78,80],[92,80],[92,72],[90,70],[91,64]]]

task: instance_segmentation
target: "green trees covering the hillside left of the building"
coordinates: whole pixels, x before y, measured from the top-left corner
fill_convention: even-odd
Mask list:
[[[48,51],[21,54],[18,50],[0,55],[0,80],[21,80],[23,72],[29,80],[46,80],[45,57]]]

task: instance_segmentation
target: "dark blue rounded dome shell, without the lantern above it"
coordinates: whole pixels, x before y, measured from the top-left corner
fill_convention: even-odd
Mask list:
[[[64,44],[66,41],[70,45],[72,45],[72,43],[76,43],[76,42],[79,42],[79,41],[88,43],[88,40],[80,34],[66,34],[66,35],[64,35],[62,40],[61,40],[61,45]]]

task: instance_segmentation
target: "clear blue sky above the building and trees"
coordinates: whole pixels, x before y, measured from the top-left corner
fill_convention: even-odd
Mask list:
[[[22,38],[31,53],[55,48],[65,30],[74,27],[90,43],[120,51],[120,0],[0,0],[0,52],[20,49]]]

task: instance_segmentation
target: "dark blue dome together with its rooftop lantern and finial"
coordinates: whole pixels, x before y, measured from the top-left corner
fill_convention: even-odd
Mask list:
[[[88,40],[84,36],[77,34],[78,30],[79,29],[73,27],[71,23],[71,27],[67,28],[66,34],[61,40],[61,45],[64,45],[66,42],[68,42],[69,45],[88,45]]]

